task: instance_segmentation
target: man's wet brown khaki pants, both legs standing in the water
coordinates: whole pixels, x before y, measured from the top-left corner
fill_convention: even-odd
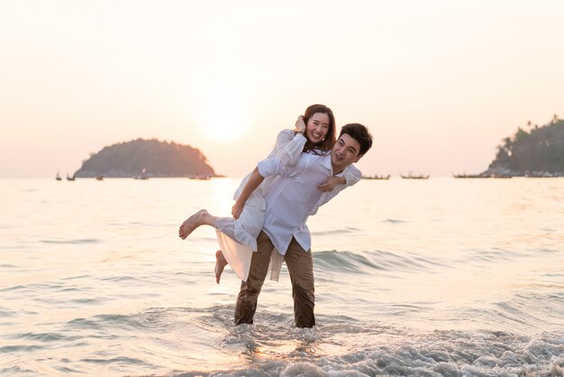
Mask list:
[[[270,254],[274,244],[264,232],[257,238],[257,252],[252,253],[249,279],[241,281],[241,290],[235,306],[235,324],[252,324],[262,283],[267,277]],[[287,264],[292,281],[292,297],[294,298],[294,316],[297,327],[312,327],[314,317],[314,258],[311,250],[307,253],[292,238],[284,261]]]

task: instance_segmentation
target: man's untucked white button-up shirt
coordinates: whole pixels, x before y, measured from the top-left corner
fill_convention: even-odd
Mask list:
[[[331,154],[302,153],[296,166],[291,167],[277,157],[270,157],[259,161],[258,168],[262,177],[275,177],[264,193],[266,212],[262,230],[282,255],[286,254],[292,237],[309,251],[312,241],[305,225],[307,217],[345,188],[337,185],[327,193],[317,189],[317,185],[333,175]]]

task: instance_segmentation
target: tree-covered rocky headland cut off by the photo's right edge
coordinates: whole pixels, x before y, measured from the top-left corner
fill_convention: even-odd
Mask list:
[[[562,177],[564,176],[564,120],[557,115],[549,124],[528,124],[497,147],[496,159],[483,177]]]

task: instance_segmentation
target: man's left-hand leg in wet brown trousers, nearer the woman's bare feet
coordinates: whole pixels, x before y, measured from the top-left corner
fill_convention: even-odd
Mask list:
[[[257,251],[250,260],[249,279],[241,281],[241,290],[235,305],[235,325],[252,324],[262,283],[267,277],[268,263],[274,245],[264,232],[257,238]]]

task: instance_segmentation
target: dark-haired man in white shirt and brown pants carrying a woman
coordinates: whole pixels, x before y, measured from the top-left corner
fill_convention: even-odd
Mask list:
[[[294,167],[285,166],[277,157],[259,162],[232,209],[232,215],[237,218],[245,200],[262,180],[276,176],[265,194],[265,221],[257,238],[258,250],[252,254],[249,278],[241,282],[235,306],[236,325],[253,323],[259,293],[275,248],[284,256],[292,281],[296,326],[315,325],[314,260],[310,250],[311,235],[305,221],[344,187],[339,185],[330,192],[321,192],[317,185],[359,161],[371,146],[372,136],[364,125],[347,124],[342,127],[331,154],[302,153]]]

